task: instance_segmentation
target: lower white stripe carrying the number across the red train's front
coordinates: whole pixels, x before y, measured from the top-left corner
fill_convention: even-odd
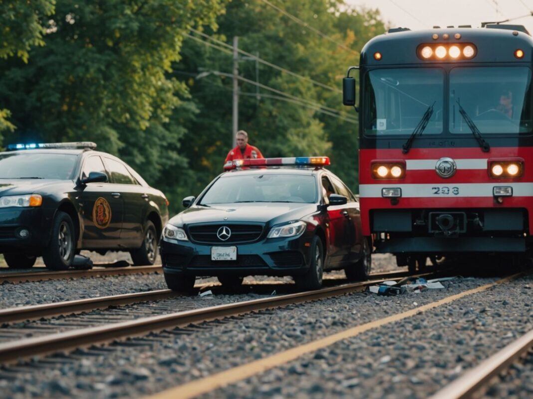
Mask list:
[[[533,197],[533,182],[530,183],[435,183],[435,184],[361,184],[361,198],[381,198],[381,189],[400,187],[403,198],[449,198],[449,197],[492,197],[495,186],[513,187],[513,197]],[[457,194],[455,194],[457,193]]]

